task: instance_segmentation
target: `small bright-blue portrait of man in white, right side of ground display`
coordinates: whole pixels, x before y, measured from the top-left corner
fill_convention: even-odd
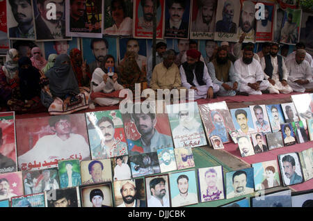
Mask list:
[[[280,104],[266,105],[266,111],[272,131],[280,131],[280,124],[284,124],[284,115]]]

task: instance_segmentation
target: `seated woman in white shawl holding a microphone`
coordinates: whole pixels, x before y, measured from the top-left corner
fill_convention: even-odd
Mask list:
[[[111,106],[120,103],[119,90],[124,89],[118,83],[118,70],[114,67],[115,60],[111,55],[104,58],[104,71],[97,67],[91,79],[90,97],[100,106]],[[90,108],[93,106],[90,105]]]

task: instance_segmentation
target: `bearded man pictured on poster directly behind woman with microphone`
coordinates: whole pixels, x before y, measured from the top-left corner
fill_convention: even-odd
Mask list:
[[[93,38],[90,43],[90,48],[95,56],[95,61],[88,64],[90,73],[95,72],[97,67],[104,69],[104,58],[108,54],[109,43],[105,38]]]

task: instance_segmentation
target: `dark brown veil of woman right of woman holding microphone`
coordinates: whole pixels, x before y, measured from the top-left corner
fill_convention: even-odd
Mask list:
[[[118,67],[120,70],[120,84],[124,88],[129,88],[135,91],[135,83],[147,82],[147,78],[136,62],[136,53],[134,51],[127,51],[125,58]]]

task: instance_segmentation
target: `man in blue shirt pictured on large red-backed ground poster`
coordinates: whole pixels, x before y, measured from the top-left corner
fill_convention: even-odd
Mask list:
[[[134,104],[133,113],[131,119],[134,120],[138,132],[141,134],[141,145],[142,148],[138,152],[130,151],[129,154],[143,154],[150,152],[157,152],[157,149],[164,149],[166,147],[172,147],[172,138],[163,133],[159,133],[155,126],[157,125],[157,116],[155,111],[150,108],[149,113],[136,113],[136,105]]]

